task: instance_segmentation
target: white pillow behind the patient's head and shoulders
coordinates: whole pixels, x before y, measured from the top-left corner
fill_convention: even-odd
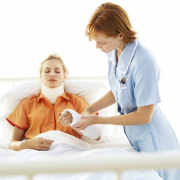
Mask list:
[[[97,81],[67,80],[64,83],[65,92],[82,96],[89,104],[103,96],[109,86]],[[0,137],[10,142],[13,126],[6,121],[6,117],[16,108],[24,98],[37,95],[41,91],[41,80],[23,83],[0,96]],[[101,110],[100,115],[106,115],[107,110]]]

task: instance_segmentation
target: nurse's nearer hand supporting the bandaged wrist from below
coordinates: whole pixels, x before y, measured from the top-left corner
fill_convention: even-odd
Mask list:
[[[96,124],[98,121],[99,116],[97,115],[82,115],[82,121],[78,122],[77,124],[73,125],[72,128],[76,131],[80,131],[86,129],[88,126],[92,124]]]

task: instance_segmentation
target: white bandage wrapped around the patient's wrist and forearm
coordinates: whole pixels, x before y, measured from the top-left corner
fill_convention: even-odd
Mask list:
[[[76,111],[72,110],[72,109],[65,109],[62,113],[66,113],[69,112],[71,113],[72,117],[73,117],[73,121],[70,124],[70,126],[73,126],[75,124],[77,124],[78,122],[82,121],[82,119],[80,118],[81,115],[78,114]],[[95,124],[95,125],[90,125],[88,126],[86,129],[84,130],[80,130],[80,132],[84,135],[87,136],[91,139],[97,139],[101,136],[102,134],[102,128],[99,124]]]

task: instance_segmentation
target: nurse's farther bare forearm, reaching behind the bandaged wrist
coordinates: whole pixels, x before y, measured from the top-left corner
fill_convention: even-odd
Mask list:
[[[89,107],[87,107],[81,114],[82,115],[92,114],[94,112],[97,112],[101,109],[104,109],[104,108],[114,104],[115,102],[116,101],[115,101],[114,95],[113,95],[112,91],[110,90],[102,98],[100,98],[99,100],[97,100],[96,102],[91,104]]]

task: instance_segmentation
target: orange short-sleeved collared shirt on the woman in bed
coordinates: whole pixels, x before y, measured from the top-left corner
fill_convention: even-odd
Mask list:
[[[62,126],[57,121],[59,117],[57,113],[65,109],[73,109],[80,114],[87,106],[88,103],[82,97],[64,93],[57,98],[53,107],[40,93],[23,99],[6,119],[13,126],[26,130],[25,137],[28,139],[50,130],[60,130],[81,138],[71,126]]]

